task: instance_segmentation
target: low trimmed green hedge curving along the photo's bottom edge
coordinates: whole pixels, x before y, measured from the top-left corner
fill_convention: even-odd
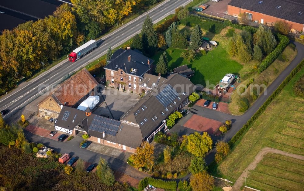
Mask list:
[[[151,177],[146,177],[142,180],[140,180],[138,184],[138,190],[143,190],[145,189],[148,184],[156,187],[156,188],[161,188],[165,190],[176,190],[177,183],[175,181],[164,181],[161,179],[154,179]]]

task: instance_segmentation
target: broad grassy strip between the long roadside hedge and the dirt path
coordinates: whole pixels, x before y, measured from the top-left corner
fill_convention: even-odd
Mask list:
[[[286,152],[294,154],[304,154],[302,148],[296,148],[299,140],[289,142],[287,138],[278,142],[272,142],[272,138],[277,134],[277,131],[282,131],[282,121],[285,116],[289,117],[291,121],[299,120],[296,114],[292,114],[291,110],[282,110],[282,108],[293,108],[300,110],[301,104],[295,100],[302,100],[299,97],[293,97],[292,86],[298,80],[304,69],[302,68],[283,88],[281,93],[273,99],[266,110],[251,124],[242,136],[237,140],[230,154],[219,164],[218,169],[213,170],[213,174],[219,174],[225,177],[227,169],[231,174],[232,179],[237,179],[244,169],[253,161],[257,153],[266,146],[277,148]],[[296,125],[296,124],[295,124]],[[299,126],[298,124],[297,126]],[[277,139],[276,139],[277,140]],[[278,140],[277,140],[278,141]],[[301,141],[301,140],[300,140]],[[286,145],[291,146],[286,146]]]

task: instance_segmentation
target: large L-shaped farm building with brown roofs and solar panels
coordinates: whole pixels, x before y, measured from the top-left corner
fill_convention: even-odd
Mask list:
[[[63,106],[55,129],[72,135],[86,133],[91,141],[135,152],[141,142],[150,142],[157,132],[168,130],[166,118],[188,104],[188,97],[195,90],[194,84],[179,74],[152,81],[158,79],[161,82],[151,88],[153,91],[143,96],[120,121],[93,114],[89,109]]]

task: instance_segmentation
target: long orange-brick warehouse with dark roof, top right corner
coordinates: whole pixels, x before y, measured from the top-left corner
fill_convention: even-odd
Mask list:
[[[303,0],[231,0],[227,5],[228,15],[238,17],[246,13],[247,18],[261,24],[286,21],[292,29],[304,30]]]

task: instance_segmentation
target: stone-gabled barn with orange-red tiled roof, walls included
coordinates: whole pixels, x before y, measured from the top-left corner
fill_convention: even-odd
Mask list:
[[[64,81],[54,92],[38,104],[39,117],[50,119],[58,118],[61,108],[77,107],[91,95],[95,95],[95,88],[98,82],[83,69],[70,79]]]

